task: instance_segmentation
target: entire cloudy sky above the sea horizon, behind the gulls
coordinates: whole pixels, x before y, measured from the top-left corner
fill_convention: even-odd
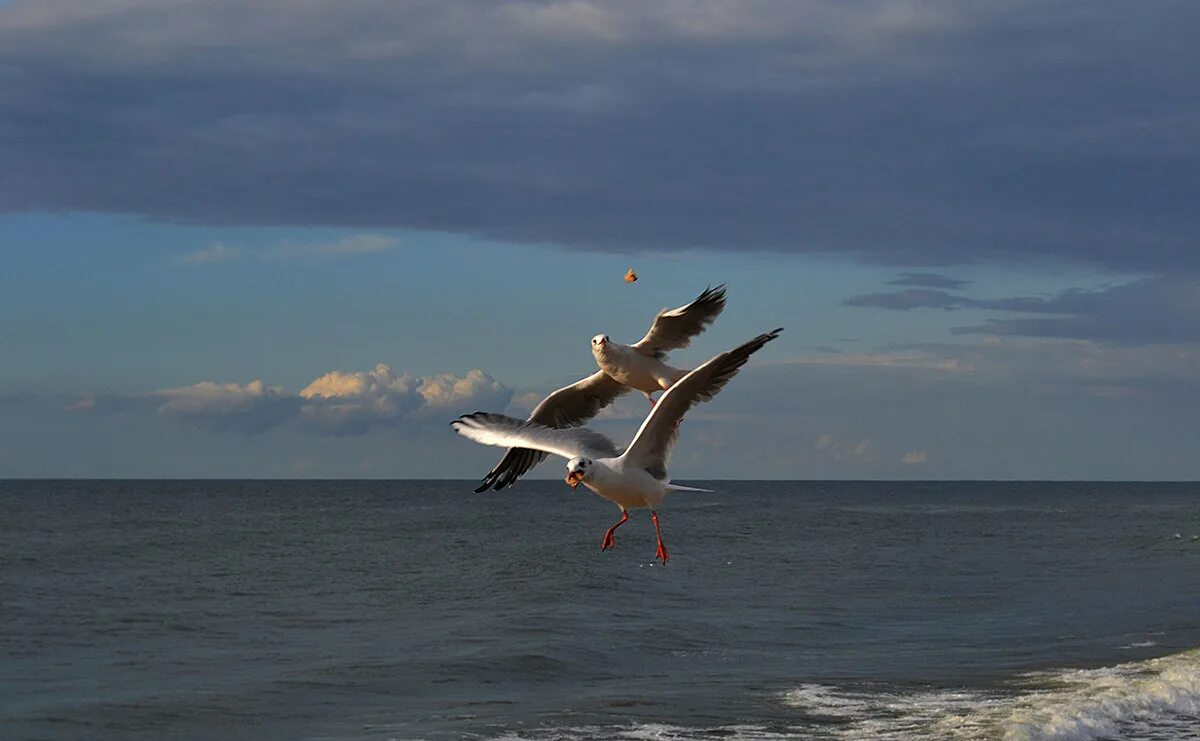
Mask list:
[[[0,2],[0,477],[476,478],[502,451],[450,420],[725,283],[676,365],[786,329],[677,481],[1200,480],[1198,32],[1190,0]]]

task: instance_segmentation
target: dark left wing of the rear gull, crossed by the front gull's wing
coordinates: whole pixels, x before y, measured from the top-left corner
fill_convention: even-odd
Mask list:
[[[534,408],[529,421],[546,427],[578,427],[600,414],[601,409],[612,404],[618,396],[626,391],[629,391],[629,386],[614,380],[604,370],[598,370],[586,379],[564,386],[547,396]],[[528,474],[529,469],[545,459],[546,453],[541,451],[526,447],[509,448],[496,468],[484,476],[475,492],[485,492],[490,488],[499,492],[504,487],[512,486]]]

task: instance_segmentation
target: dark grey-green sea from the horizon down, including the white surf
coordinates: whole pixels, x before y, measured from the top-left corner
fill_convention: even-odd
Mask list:
[[[0,482],[0,739],[1200,739],[1200,484],[472,486]]]

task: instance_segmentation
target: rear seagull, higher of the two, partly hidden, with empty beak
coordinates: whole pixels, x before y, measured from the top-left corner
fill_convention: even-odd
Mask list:
[[[724,308],[725,285],[718,285],[706,289],[691,303],[660,311],[646,337],[632,345],[596,335],[592,338],[592,355],[600,370],[547,396],[534,408],[528,421],[554,428],[577,427],[631,387],[646,393],[653,405],[652,391],[666,390],[688,373],[664,362],[667,351],[690,345],[691,338],[713,324]],[[545,459],[544,452],[511,447],[484,476],[475,492],[490,488],[499,492],[512,486]]]

